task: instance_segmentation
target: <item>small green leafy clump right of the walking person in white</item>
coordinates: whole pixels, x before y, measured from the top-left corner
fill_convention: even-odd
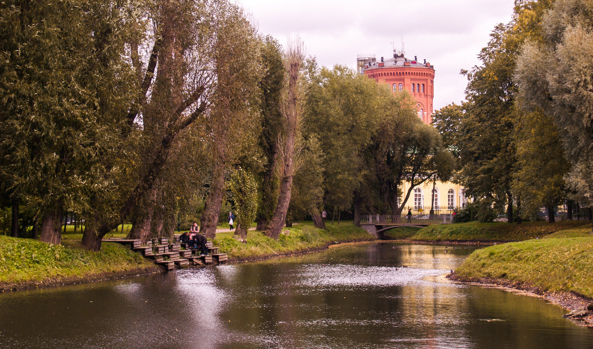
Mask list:
[[[257,182],[250,172],[239,167],[231,175],[231,191],[235,200],[237,224],[248,229],[256,219]]]

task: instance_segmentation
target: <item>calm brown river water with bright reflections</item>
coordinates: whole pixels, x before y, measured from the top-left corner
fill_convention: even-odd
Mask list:
[[[473,249],[352,244],[0,294],[0,347],[593,348],[558,306],[446,280]]]

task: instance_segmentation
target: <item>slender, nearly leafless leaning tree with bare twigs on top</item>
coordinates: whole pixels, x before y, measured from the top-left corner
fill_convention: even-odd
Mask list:
[[[297,39],[288,44],[285,57],[286,83],[285,92],[280,102],[280,112],[283,116],[284,132],[278,138],[280,156],[280,192],[278,203],[272,220],[267,224],[264,232],[271,238],[278,239],[280,230],[286,221],[286,213],[291,201],[292,180],[295,174],[295,155],[298,137],[301,132],[303,116],[304,84],[302,82],[302,65],[304,62],[304,47]]]

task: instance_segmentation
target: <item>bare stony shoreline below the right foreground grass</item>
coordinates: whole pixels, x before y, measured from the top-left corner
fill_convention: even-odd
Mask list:
[[[528,282],[511,281],[505,278],[480,277],[480,278],[464,278],[455,273],[447,274],[451,281],[463,284],[476,285],[480,287],[489,287],[506,290],[508,292],[521,292],[527,296],[538,297],[547,300],[550,303],[558,305],[569,312],[573,310],[586,310],[587,306],[593,302],[592,298],[582,296],[575,292],[550,292],[543,290],[540,287],[533,286]],[[589,312],[586,316],[566,316],[572,320],[573,323],[579,326],[586,326],[593,328],[593,312]]]

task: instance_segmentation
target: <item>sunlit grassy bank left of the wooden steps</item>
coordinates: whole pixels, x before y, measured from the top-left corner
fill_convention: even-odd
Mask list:
[[[0,290],[92,281],[154,270],[126,246],[104,243],[99,252],[82,249],[66,236],[63,245],[0,235]]]

